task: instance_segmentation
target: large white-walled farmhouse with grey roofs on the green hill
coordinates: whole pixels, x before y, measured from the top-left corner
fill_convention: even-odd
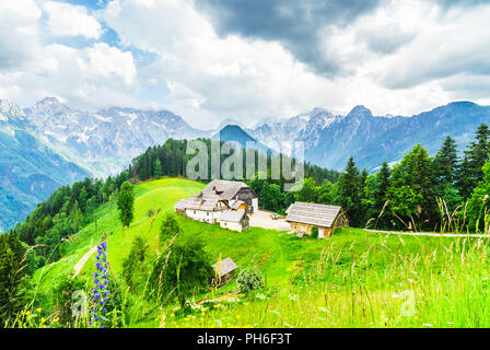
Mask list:
[[[248,215],[258,211],[258,196],[245,183],[214,179],[200,194],[178,200],[176,213],[242,232],[248,229]]]

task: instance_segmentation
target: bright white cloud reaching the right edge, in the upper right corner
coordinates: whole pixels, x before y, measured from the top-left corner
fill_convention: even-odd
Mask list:
[[[380,82],[409,89],[453,75],[490,75],[490,5],[420,13],[417,37],[399,52],[381,60]]]

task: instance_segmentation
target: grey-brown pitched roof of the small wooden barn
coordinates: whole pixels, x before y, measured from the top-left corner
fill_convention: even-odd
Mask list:
[[[301,222],[319,228],[331,228],[341,211],[341,207],[296,201],[287,212],[285,221]]]

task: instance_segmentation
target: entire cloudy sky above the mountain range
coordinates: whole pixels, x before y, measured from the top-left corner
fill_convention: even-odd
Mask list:
[[[211,129],[323,107],[490,104],[490,1],[1,0],[0,98]]]

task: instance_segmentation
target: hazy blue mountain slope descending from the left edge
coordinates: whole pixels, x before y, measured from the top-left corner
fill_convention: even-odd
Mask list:
[[[60,186],[90,175],[36,138],[19,106],[0,101],[0,232]]]

